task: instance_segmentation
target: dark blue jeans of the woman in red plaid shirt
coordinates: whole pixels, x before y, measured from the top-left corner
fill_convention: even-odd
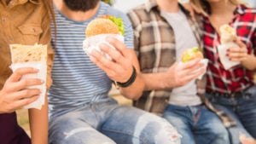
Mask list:
[[[247,89],[238,98],[225,98],[212,94],[207,94],[207,98],[215,107],[236,120],[237,125],[228,129],[232,144],[240,143],[240,134],[256,138],[256,86]]]

